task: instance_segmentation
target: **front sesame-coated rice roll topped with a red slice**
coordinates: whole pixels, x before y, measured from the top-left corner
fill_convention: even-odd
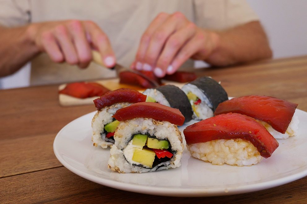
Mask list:
[[[135,103],[113,116],[120,121],[108,167],[119,173],[143,173],[180,166],[184,123],[178,109],[154,102]]]

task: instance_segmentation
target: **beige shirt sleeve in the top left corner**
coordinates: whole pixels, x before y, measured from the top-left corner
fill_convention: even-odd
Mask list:
[[[0,8],[1,26],[16,27],[31,21],[29,0],[0,0]]]

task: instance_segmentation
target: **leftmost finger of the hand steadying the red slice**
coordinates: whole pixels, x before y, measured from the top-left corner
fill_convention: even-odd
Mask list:
[[[143,58],[145,56],[147,47],[150,42],[151,35],[154,33],[154,31],[169,17],[169,14],[166,13],[160,13],[157,15],[157,17],[149,24],[146,31],[141,37],[141,41],[139,44],[138,51],[136,53],[136,69],[141,70],[143,69]],[[147,67],[145,66],[145,69]],[[149,68],[148,68],[149,69]]]

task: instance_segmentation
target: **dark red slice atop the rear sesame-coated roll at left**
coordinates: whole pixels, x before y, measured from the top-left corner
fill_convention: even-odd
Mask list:
[[[101,110],[106,106],[110,106],[114,103],[120,102],[145,102],[146,95],[141,94],[140,92],[132,89],[117,89],[114,91],[109,91],[106,94],[102,95],[100,98],[94,100],[94,104],[97,110]]]

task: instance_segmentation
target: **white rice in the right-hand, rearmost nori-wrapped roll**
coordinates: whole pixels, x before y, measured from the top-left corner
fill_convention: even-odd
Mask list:
[[[197,86],[186,84],[181,88],[181,90],[183,90],[185,94],[192,92],[192,94],[195,94],[199,99],[201,99],[201,103],[198,105],[195,105],[194,101],[190,100],[191,106],[194,106],[194,109],[197,112],[195,113],[193,110],[192,117],[194,120],[204,120],[213,116],[212,104],[210,103],[207,96],[200,89],[198,89]]]

